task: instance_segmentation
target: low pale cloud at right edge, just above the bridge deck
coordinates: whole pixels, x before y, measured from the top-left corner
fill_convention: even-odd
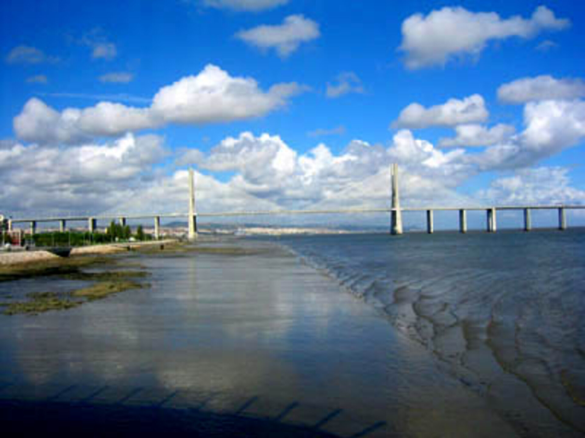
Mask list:
[[[479,197],[504,205],[585,203],[585,191],[570,186],[569,169],[522,169],[514,176],[494,180]]]

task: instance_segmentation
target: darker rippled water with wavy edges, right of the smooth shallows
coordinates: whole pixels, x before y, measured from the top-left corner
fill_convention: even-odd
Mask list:
[[[377,308],[519,430],[585,432],[584,232],[281,243]]]

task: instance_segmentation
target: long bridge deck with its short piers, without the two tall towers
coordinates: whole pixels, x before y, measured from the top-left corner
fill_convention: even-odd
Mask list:
[[[259,216],[259,215],[297,215],[297,214],[370,214],[370,213],[396,213],[404,211],[426,211],[427,232],[434,232],[433,213],[435,211],[459,211],[459,231],[467,232],[467,211],[486,211],[487,214],[487,231],[495,232],[497,230],[496,211],[523,210],[524,211],[524,230],[532,229],[531,211],[532,210],[558,210],[559,230],[566,230],[566,210],[583,210],[585,205],[549,205],[549,206],[475,206],[475,207],[401,207],[401,208],[343,208],[330,210],[266,210],[266,211],[225,211],[219,213],[195,213],[193,220],[197,217],[238,217],[238,216]],[[29,223],[30,231],[36,231],[37,223],[56,222],[60,224],[60,230],[65,231],[67,222],[85,221],[88,224],[88,230],[93,232],[97,227],[97,221],[118,220],[120,224],[126,225],[127,220],[137,219],[154,219],[154,234],[156,238],[160,237],[160,219],[161,218],[180,218],[189,217],[188,213],[160,213],[160,214],[108,214],[94,216],[69,216],[69,217],[45,217],[45,218],[16,218],[8,219],[8,229],[12,230],[13,224]]]

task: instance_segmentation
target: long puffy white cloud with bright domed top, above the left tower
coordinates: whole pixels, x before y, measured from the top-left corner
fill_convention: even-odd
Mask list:
[[[215,65],[197,76],[164,86],[149,107],[100,102],[85,109],[61,112],[32,98],[13,120],[16,135],[25,141],[75,144],[92,137],[117,136],[128,131],[167,124],[205,124],[261,117],[286,105],[304,88],[277,84],[262,91],[252,78],[231,77]]]

